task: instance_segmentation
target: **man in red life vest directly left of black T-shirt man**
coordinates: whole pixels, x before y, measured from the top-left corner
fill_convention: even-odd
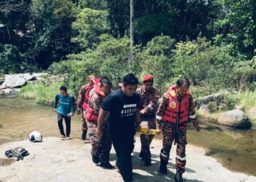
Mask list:
[[[98,126],[99,110],[102,107],[103,100],[110,94],[112,90],[112,83],[107,77],[102,77],[99,83],[94,84],[94,94],[89,99],[89,106],[86,109],[86,122],[89,130],[89,137],[91,141],[91,155],[95,164],[100,162],[100,166],[112,169],[110,165],[109,156],[112,145],[108,122],[103,126],[103,135],[99,137],[96,135]]]

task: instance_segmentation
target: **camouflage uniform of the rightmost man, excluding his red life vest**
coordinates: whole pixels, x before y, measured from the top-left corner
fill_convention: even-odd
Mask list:
[[[162,150],[160,153],[161,165],[167,165],[170,149],[173,141],[177,143],[176,149],[176,170],[178,173],[185,172],[186,165],[186,144],[187,144],[187,122],[176,123],[162,121],[162,116],[168,106],[168,96],[164,94],[157,111],[157,129],[162,129],[163,141]],[[195,117],[195,105],[192,95],[189,95],[189,117],[190,120],[195,124],[197,119]],[[192,119],[191,119],[192,118]]]

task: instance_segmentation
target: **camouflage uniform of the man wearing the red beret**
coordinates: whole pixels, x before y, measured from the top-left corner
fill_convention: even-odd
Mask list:
[[[159,90],[152,88],[146,91],[145,87],[138,88],[137,92],[140,93],[140,110],[144,109],[145,114],[140,114],[141,121],[148,122],[149,129],[156,129],[155,113],[157,111],[157,101],[159,100]],[[153,140],[154,135],[140,135],[141,151],[140,157],[143,160],[151,159],[151,152],[149,146]]]

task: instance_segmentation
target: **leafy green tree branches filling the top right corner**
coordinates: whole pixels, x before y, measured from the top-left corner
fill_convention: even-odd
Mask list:
[[[219,3],[223,15],[215,23],[219,32],[215,42],[229,45],[233,55],[252,58],[256,45],[256,2],[219,0]]]

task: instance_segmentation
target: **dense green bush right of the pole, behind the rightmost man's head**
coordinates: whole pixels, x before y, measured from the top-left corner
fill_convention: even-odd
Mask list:
[[[173,72],[192,80],[193,84],[211,85],[215,90],[232,87],[233,57],[226,47],[211,46],[205,39],[176,44]]]

